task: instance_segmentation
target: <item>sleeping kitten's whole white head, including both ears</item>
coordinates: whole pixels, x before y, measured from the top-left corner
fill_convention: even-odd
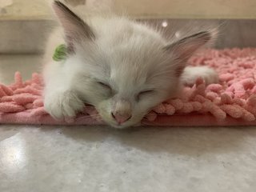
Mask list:
[[[89,26],[60,2],[54,10],[64,29],[73,86],[118,128],[140,122],[177,94],[187,59],[211,38],[204,31],[168,44],[157,31],[126,18],[94,18]]]

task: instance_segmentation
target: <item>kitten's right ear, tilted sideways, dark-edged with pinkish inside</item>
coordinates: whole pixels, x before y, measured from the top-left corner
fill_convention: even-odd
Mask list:
[[[187,60],[212,38],[212,34],[208,31],[203,31],[198,34],[192,34],[186,38],[182,38],[174,42],[164,49],[170,51],[174,55],[178,68],[176,74],[179,76],[186,67]]]

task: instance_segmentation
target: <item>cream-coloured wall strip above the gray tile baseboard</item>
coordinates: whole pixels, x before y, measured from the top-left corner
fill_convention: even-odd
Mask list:
[[[13,2],[0,11],[0,19],[50,18],[51,0],[0,0]],[[63,0],[81,2],[84,0]],[[116,10],[137,18],[256,18],[256,0],[87,0],[114,1]]]

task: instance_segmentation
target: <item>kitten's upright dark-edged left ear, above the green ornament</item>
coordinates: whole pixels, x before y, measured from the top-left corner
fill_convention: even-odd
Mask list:
[[[64,29],[68,50],[74,51],[74,42],[81,42],[82,39],[93,40],[95,38],[90,26],[62,2],[54,1],[53,9]]]

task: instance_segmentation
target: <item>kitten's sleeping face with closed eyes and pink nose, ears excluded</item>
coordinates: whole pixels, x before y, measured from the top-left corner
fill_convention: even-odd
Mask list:
[[[162,38],[156,34],[142,38],[140,33],[124,33],[129,39],[118,42],[98,35],[93,44],[78,46],[71,56],[76,60],[73,66],[78,67],[74,79],[78,92],[114,127],[140,122],[179,87],[178,66],[164,50]]]

